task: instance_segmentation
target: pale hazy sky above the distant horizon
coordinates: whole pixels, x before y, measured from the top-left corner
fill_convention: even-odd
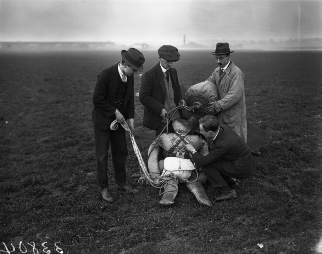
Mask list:
[[[212,44],[322,38],[322,1],[0,0],[0,41]]]

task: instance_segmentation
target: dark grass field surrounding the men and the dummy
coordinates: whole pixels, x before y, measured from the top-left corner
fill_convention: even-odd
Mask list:
[[[147,70],[157,55],[143,53]],[[174,67],[183,86],[216,68],[208,51],[180,53]],[[140,193],[118,192],[109,168],[115,202],[101,201],[91,99],[97,75],[120,52],[0,52],[0,58],[1,251],[318,253],[322,52],[232,53],[246,77],[248,121],[271,139],[254,156],[254,176],[238,181],[237,200],[215,203],[218,190],[205,184],[212,208],[201,207],[183,186],[174,205],[159,206],[158,189],[131,179],[139,164],[129,138],[128,183]],[[142,126],[138,97],[135,103],[135,139],[147,159],[155,134]]]

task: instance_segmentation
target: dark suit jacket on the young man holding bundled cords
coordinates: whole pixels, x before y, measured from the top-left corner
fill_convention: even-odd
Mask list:
[[[97,76],[93,95],[94,108],[92,120],[99,129],[107,130],[116,119],[114,105],[118,88],[118,64],[103,70]],[[123,98],[123,116],[125,119],[134,118],[134,77],[127,76],[128,83]]]

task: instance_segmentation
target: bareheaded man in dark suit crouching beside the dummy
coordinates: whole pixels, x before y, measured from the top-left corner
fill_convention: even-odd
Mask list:
[[[248,145],[230,128],[220,127],[215,116],[199,119],[200,133],[213,140],[213,150],[202,156],[191,144],[185,146],[192,152],[192,158],[201,165],[213,188],[220,188],[220,196],[215,201],[237,198],[234,189],[238,187],[232,178],[244,179],[255,171],[255,164]]]

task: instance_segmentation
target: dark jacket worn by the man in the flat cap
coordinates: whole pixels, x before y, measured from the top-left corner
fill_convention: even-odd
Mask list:
[[[177,70],[170,68],[169,76],[174,92],[174,102],[178,106],[182,95]],[[151,130],[156,130],[162,120],[160,113],[166,100],[165,89],[164,74],[158,62],[142,75],[139,91],[139,101],[145,107],[143,125]]]

